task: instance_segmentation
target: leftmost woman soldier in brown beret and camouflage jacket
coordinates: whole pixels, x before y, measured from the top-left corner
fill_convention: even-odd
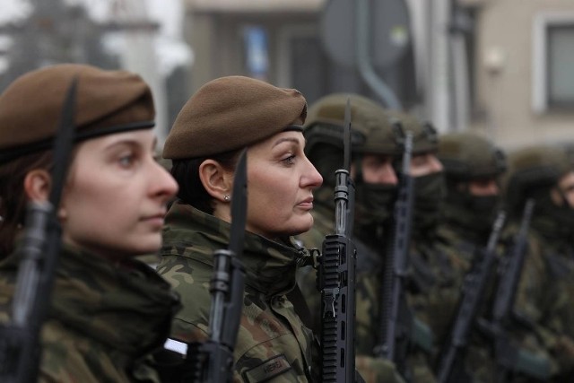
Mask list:
[[[152,94],[135,74],[52,65],[0,95],[0,320],[12,315],[25,206],[48,200],[52,141],[73,78],[75,145],[57,209],[63,243],[39,381],[159,381],[144,361],[165,342],[178,299],[133,258],[161,247],[178,186],[153,157]]]

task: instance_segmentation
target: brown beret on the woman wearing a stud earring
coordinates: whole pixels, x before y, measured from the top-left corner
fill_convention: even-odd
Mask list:
[[[297,118],[304,122],[306,115],[300,91],[249,77],[221,77],[204,84],[179,111],[163,157],[229,152],[279,133]]]

